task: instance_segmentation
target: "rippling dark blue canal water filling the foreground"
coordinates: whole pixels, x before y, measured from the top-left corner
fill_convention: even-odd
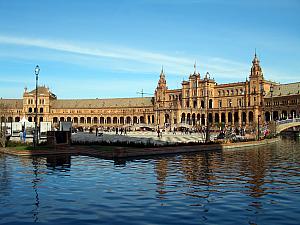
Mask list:
[[[120,162],[0,155],[0,224],[299,221],[299,141]]]

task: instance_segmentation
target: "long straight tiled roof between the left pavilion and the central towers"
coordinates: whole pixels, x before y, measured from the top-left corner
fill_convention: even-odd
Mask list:
[[[53,109],[90,109],[147,106],[153,106],[152,97],[113,99],[62,99],[51,101],[51,108]]]

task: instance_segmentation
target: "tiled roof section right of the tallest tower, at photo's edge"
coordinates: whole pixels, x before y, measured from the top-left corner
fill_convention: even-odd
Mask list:
[[[273,97],[290,96],[300,94],[300,82],[290,84],[280,84],[273,86]],[[271,92],[268,92],[266,98],[271,97]]]

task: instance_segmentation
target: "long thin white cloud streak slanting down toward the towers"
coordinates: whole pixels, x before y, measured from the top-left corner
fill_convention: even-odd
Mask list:
[[[25,47],[36,47],[48,50],[55,50],[63,53],[71,53],[81,55],[82,57],[106,58],[111,61],[118,60],[122,63],[119,66],[126,68],[127,71],[140,71],[140,72],[158,72],[156,69],[161,65],[167,68],[168,73],[181,75],[191,72],[195,59],[184,56],[172,56],[168,54],[137,50],[133,48],[124,48],[119,46],[108,46],[103,44],[89,43],[71,43],[61,40],[47,40],[37,38],[24,38],[0,35],[0,44],[4,45],[17,45]],[[226,77],[237,77],[239,73],[244,73],[248,70],[248,65],[234,62],[231,60],[221,59],[217,57],[203,57],[197,56],[201,64],[205,66],[207,71],[211,73],[224,75]],[[65,60],[66,61],[66,60]],[[78,60],[80,61],[80,60]],[[133,64],[135,62],[135,64]],[[143,65],[137,65],[137,63]],[[122,70],[117,68],[116,64],[108,63],[111,69]],[[135,65],[135,66],[134,66]],[[154,65],[154,67],[153,67]],[[200,65],[200,68],[202,68]],[[105,66],[105,65],[103,65]],[[204,71],[203,71],[204,72]]]

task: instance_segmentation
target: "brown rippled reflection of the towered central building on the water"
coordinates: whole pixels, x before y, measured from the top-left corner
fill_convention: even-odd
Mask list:
[[[259,209],[262,204],[260,198],[266,194],[267,189],[265,177],[272,166],[268,164],[269,161],[270,152],[264,149],[211,151],[182,155],[177,159],[161,158],[155,164],[157,192],[160,198],[168,193],[165,184],[171,179],[171,173],[174,173],[173,167],[177,167],[180,170],[177,174],[181,173],[188,181],[181,191],[186,196],[202,199],[199,206],[204,210],[207,204],[222,198],[222,193],[235,192],[248,195],[248,205]]]

